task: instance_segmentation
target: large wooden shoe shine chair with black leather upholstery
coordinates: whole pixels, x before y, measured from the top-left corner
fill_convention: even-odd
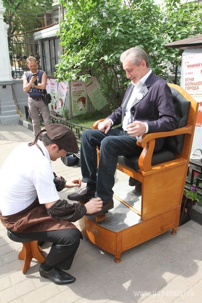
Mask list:
[[[116,192],[114,198],[139,216],[139,221],[115,231],[100,224],[105,222],[102,221],[105,214],[95,218],[84,216],[80,220],[87,238],[113,254],[116,263],[121,261],[121,254],[127,249],[171,229],[172,234],[177,233],[198,103],[180,86],[170,83],[169,86],[178,118],[177,128],[143,135],[141,142],[137,142],[143,148],[141,155],[119,157],[118,160],[118,170],[141,182],[140,210],[117,196]],[[96,121],[92,128],[96,129],[102,120]],[[160,152],[153,153],[155,139],[160,137],[167,137],[165,146]],[[97,159],[99,163],[98,148]],[[111,220],[116,215],[115,209]]]

